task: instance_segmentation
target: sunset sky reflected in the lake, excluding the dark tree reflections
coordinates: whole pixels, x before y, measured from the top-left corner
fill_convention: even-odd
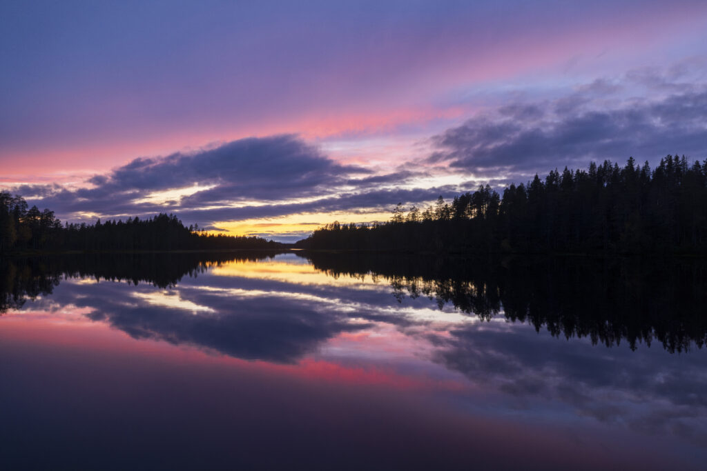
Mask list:
[[[381,276],[335,278],[292,253],[168,288],[62,280],[0,317],[0,398],[13,404],[0,412],[0,458],[81,469],[707,460],[703,349],[592,345],[395,294]]]

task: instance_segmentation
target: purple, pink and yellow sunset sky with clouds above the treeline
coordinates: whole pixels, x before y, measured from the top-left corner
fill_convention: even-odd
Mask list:
[[[2,1],[0,189],[281,241],[707,158],[707,2]]]

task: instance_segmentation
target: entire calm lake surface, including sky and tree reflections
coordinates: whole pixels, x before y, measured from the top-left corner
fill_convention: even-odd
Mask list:
[[[707,264],[0,261],[0,468],[704,469]]]

